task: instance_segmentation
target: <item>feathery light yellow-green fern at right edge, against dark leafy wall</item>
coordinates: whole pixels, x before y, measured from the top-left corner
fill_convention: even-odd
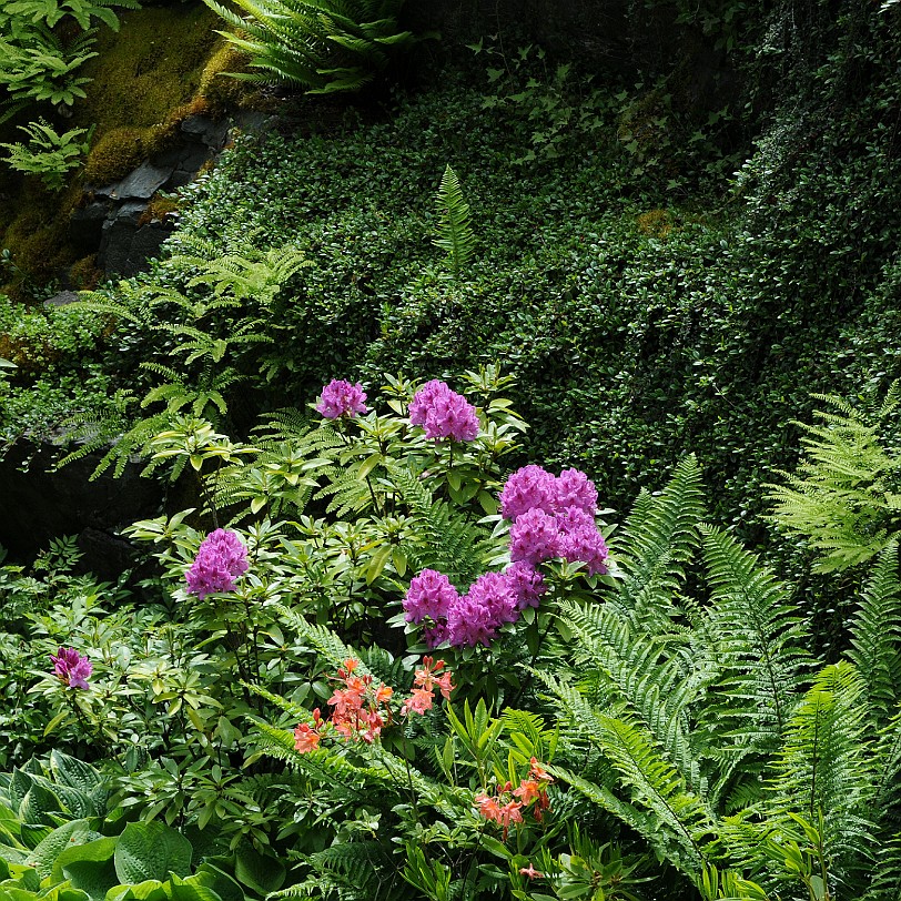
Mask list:
[[[824,425],[797,423],[807,437],[796,474],[768,485],[772,520],[800,535],[823,556],[814,569],[829,573],[874,557],[901,532],[901,456],[883,433],[901,402],[895,382],[878,408],[857,409],[840,397],[814,395],[838,413],[817,411]]]

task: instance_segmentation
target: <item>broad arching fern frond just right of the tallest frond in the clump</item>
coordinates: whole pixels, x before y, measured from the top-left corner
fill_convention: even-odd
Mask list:
[[[769,753],[784,733],[809,656],[802,620],[788,590],[730,535],[701,526],[712,588],[710,632],[721,661],[722,705],[713,718],[731,721],[749,750]]]

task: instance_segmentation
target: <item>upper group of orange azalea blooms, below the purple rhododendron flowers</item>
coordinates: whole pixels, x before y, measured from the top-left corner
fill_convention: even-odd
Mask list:
[[[360,739],[371,745],[382,733],[383,727],[393,721],[388,705],[394,689],[379,682],[376,687],[372,676],[355,676],[360,661],[353,658],[345,660],[337,671],[341,687],[334,690],[327,703],[333,707],[328,721],[323,720],[318,707],[313,711],[312,726],[302,722],[294,730],[294,749],[307,753],[320,747],[323,728],[331,725],[345,741]],[[444,698],[450,697],[454,686],[450,685],[450,672],[442,676],[435,674],[444,669],[444,660],[434,662],[431,657],[423,658],[423,668],[416,670],[413,696],[401,706],[401,716],[425,713],[432,708],[432,700],[437,687]]]

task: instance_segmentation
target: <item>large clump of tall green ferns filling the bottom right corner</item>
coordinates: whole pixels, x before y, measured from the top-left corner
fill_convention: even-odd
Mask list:
[[[578,768],[550,771],[706,899],[899,891],[901,585],[888,545],[828,666],[788,587],[703,525],[699,473],[639,498],[600,604],[564,600],[571,670],[539,671]],[[709,603],[685,594],[695,555]],[[878,624],[882,625],[878,625]]]

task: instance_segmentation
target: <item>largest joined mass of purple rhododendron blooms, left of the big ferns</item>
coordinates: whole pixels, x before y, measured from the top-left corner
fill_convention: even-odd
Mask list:
[[[526,607],[537,607],[547,591],[536,567],[554,557],[587,564],[591,575],[607,571],[607,545],[595,523],[597,488],[585,473],[567,469],[555,477],[540,466],[514,473],[500,494],[510,526],[510,566],[486,573],[460,595],[447,576],[424,569],[404,599],[408,622],[422,625],[423,640],[434,648],[485,645]]]

